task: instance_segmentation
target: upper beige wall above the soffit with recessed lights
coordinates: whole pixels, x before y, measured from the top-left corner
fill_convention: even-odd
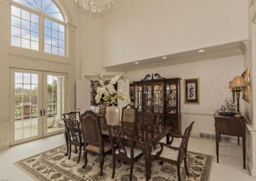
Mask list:
[[[117,0],[102,20],[104,66],[247,39],[246,0]]]

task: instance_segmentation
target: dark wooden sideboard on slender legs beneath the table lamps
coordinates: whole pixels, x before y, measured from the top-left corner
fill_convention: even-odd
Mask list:
[[[219,163],[219,143],[220,135],[238,136],[243,138],[243,167],[245,167],[246,154],[246,119],[222,116],[217,110],[214,113],[215,128],[216,128],[216,155],[217,163]]]

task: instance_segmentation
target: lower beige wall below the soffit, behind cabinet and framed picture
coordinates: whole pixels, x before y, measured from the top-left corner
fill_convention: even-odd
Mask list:
[[[212,59],[209,61],[164,66],[161,68],[143,69],[142,71],[129,71],[129,80],[141,80],[147,74],[159,73],[165,78],[182,78],[181,81],[181,126],[182,132],[195,121],[192,133],[199,136],[199,133],[215,133],[213,113],[224,104],[226,98],[232,96],[227,89],[228,81],[234,76],[243,72],[243,55]],[[200,78],[200,104],[184,104],[184,79]],[[241,101],[243,111],[243,101]]]

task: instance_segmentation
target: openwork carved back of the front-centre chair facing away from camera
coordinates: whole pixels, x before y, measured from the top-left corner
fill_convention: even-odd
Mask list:
[[[131,153],[131,158],[134,156],[134,150],[133,150],[133,134],[132,129],[128,127],[122,127],[122,126],[108,126],[109,130],[109,136],[111,140],[112,150],[115,150],[114,146],[118,145],[117,153],[114,151],[114,155],[118,155],[120,157],[129,158],[127,156],[127,152]],[[127,150],[127,147],[129,146],[131,150]]]

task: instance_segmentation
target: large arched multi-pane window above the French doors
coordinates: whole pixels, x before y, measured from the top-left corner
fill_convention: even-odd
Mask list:
[[[65,56],[65,19],[53,0],[13,0],[11,26],[11,45]]]

